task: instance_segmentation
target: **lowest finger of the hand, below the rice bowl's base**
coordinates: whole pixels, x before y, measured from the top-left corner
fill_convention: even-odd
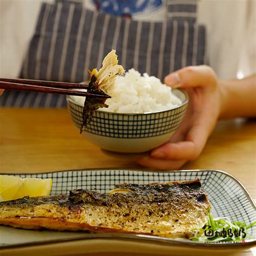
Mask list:
[[[144,167],[149,167],[155,170],[178,170],[181,166],[186,163],[186,160],[165,160],[156,159],[150,156],[141,157],[136,160],[136,162]]]

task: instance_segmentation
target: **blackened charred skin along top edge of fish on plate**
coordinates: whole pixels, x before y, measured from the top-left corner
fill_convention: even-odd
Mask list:
[[[198,204],[207,206],[207,195],[201,187],[200,181],[193,183],[180,182],[178,184],[119,184],[115,188],[126,188],[130,193],[102,194],[97,191],[84,189],[70,191],[70,200],[76,204],[95,204],[95,205],[129,205],[138,203],[140,205],[170,203],[174,197],[177,200],[193,198]],[[171,198],[169,197],[171,196]],[[210,205],[209,205],[210,206]]]

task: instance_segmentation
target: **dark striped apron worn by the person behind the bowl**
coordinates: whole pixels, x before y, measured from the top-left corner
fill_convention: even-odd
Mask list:
[[[197,0],[166,1],[164,22],[133,21],[83,8],[80,1],[43,3],[21,78],[82,82],[111,49],[125,70],[163,79],[206,62],[206,30],[197,24]],[[6,107],[65,107],[63,95],[6,90]]]

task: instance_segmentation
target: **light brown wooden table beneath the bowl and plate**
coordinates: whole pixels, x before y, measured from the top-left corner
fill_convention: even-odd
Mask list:
[[[140,167],[133,154],[109,154],[87,142],[66,109],[0,109],[0,122],[1,173]],[[201,156],[183,169],[224,170],[238,178],[255,199],[255,123],[219,122]],[[253,255],[250,250],[244,253]]]

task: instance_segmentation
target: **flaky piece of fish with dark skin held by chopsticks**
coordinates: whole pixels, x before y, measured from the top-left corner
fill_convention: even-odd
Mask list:
[[[102,68],[97,71],[90,71],[89,87],[87,92],[102,92],[107,94],[107,90],[114,84],[116,75],[123,75],[123,66],[118,65],[116,50],[112,50],[103,60]],[[93,112],[100,107],[108,107],[105,104],[105,98],[87,97],[84,102],[83,121],[80,127],[80,133],[85,130],[87,124],[92,120]]]

